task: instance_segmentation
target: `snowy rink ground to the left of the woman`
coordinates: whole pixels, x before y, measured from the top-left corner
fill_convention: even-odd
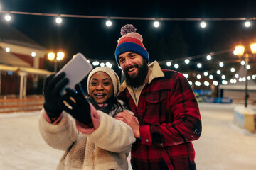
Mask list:
[[[63,152],[41,138],[39,112],[0,114],[0,169],[55,169]]]

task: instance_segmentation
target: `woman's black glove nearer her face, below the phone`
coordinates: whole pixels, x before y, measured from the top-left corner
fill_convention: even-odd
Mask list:
[[[91,125],[92,118],[90,116],[90,105],[82,93],[80,85],[75,85],[75,91],[69,88],[65,89],[65,91],[67,93],[62,96],[62,100],[59,103],[60,108],[72,115],[78,122],[83,123],[84,125]],[[66,106],[63,101],[68,103],[72,108]]]

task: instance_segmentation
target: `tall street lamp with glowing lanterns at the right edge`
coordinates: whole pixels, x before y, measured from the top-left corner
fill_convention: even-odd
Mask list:
[[[256,55],[256,43],[250,45],[251,50],[245,50],[245,47],[238,45],[235,47],[235,52],[237,52],[238,57],[243,57],[245,59],[245,108],[247,108],[247,97],[248,97],[248,79],[247,79],[247,66],[249,57],[254,57]],[[245,55],[244,55],[245,52]]]

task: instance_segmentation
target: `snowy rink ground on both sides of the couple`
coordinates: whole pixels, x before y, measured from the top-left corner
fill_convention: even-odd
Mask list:
[[[255,169],[256,134],[233,124],[236,105],[199,103],[203,132],[193,142],[198,170]],[[39,111],[0,114],[0,169],[55,169],[63,151],[46,145]]]

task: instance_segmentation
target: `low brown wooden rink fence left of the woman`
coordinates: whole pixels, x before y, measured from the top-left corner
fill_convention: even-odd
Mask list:
[[[38,111],[43,108],[43,96],[31,98],[0,98],[0,113]]]

